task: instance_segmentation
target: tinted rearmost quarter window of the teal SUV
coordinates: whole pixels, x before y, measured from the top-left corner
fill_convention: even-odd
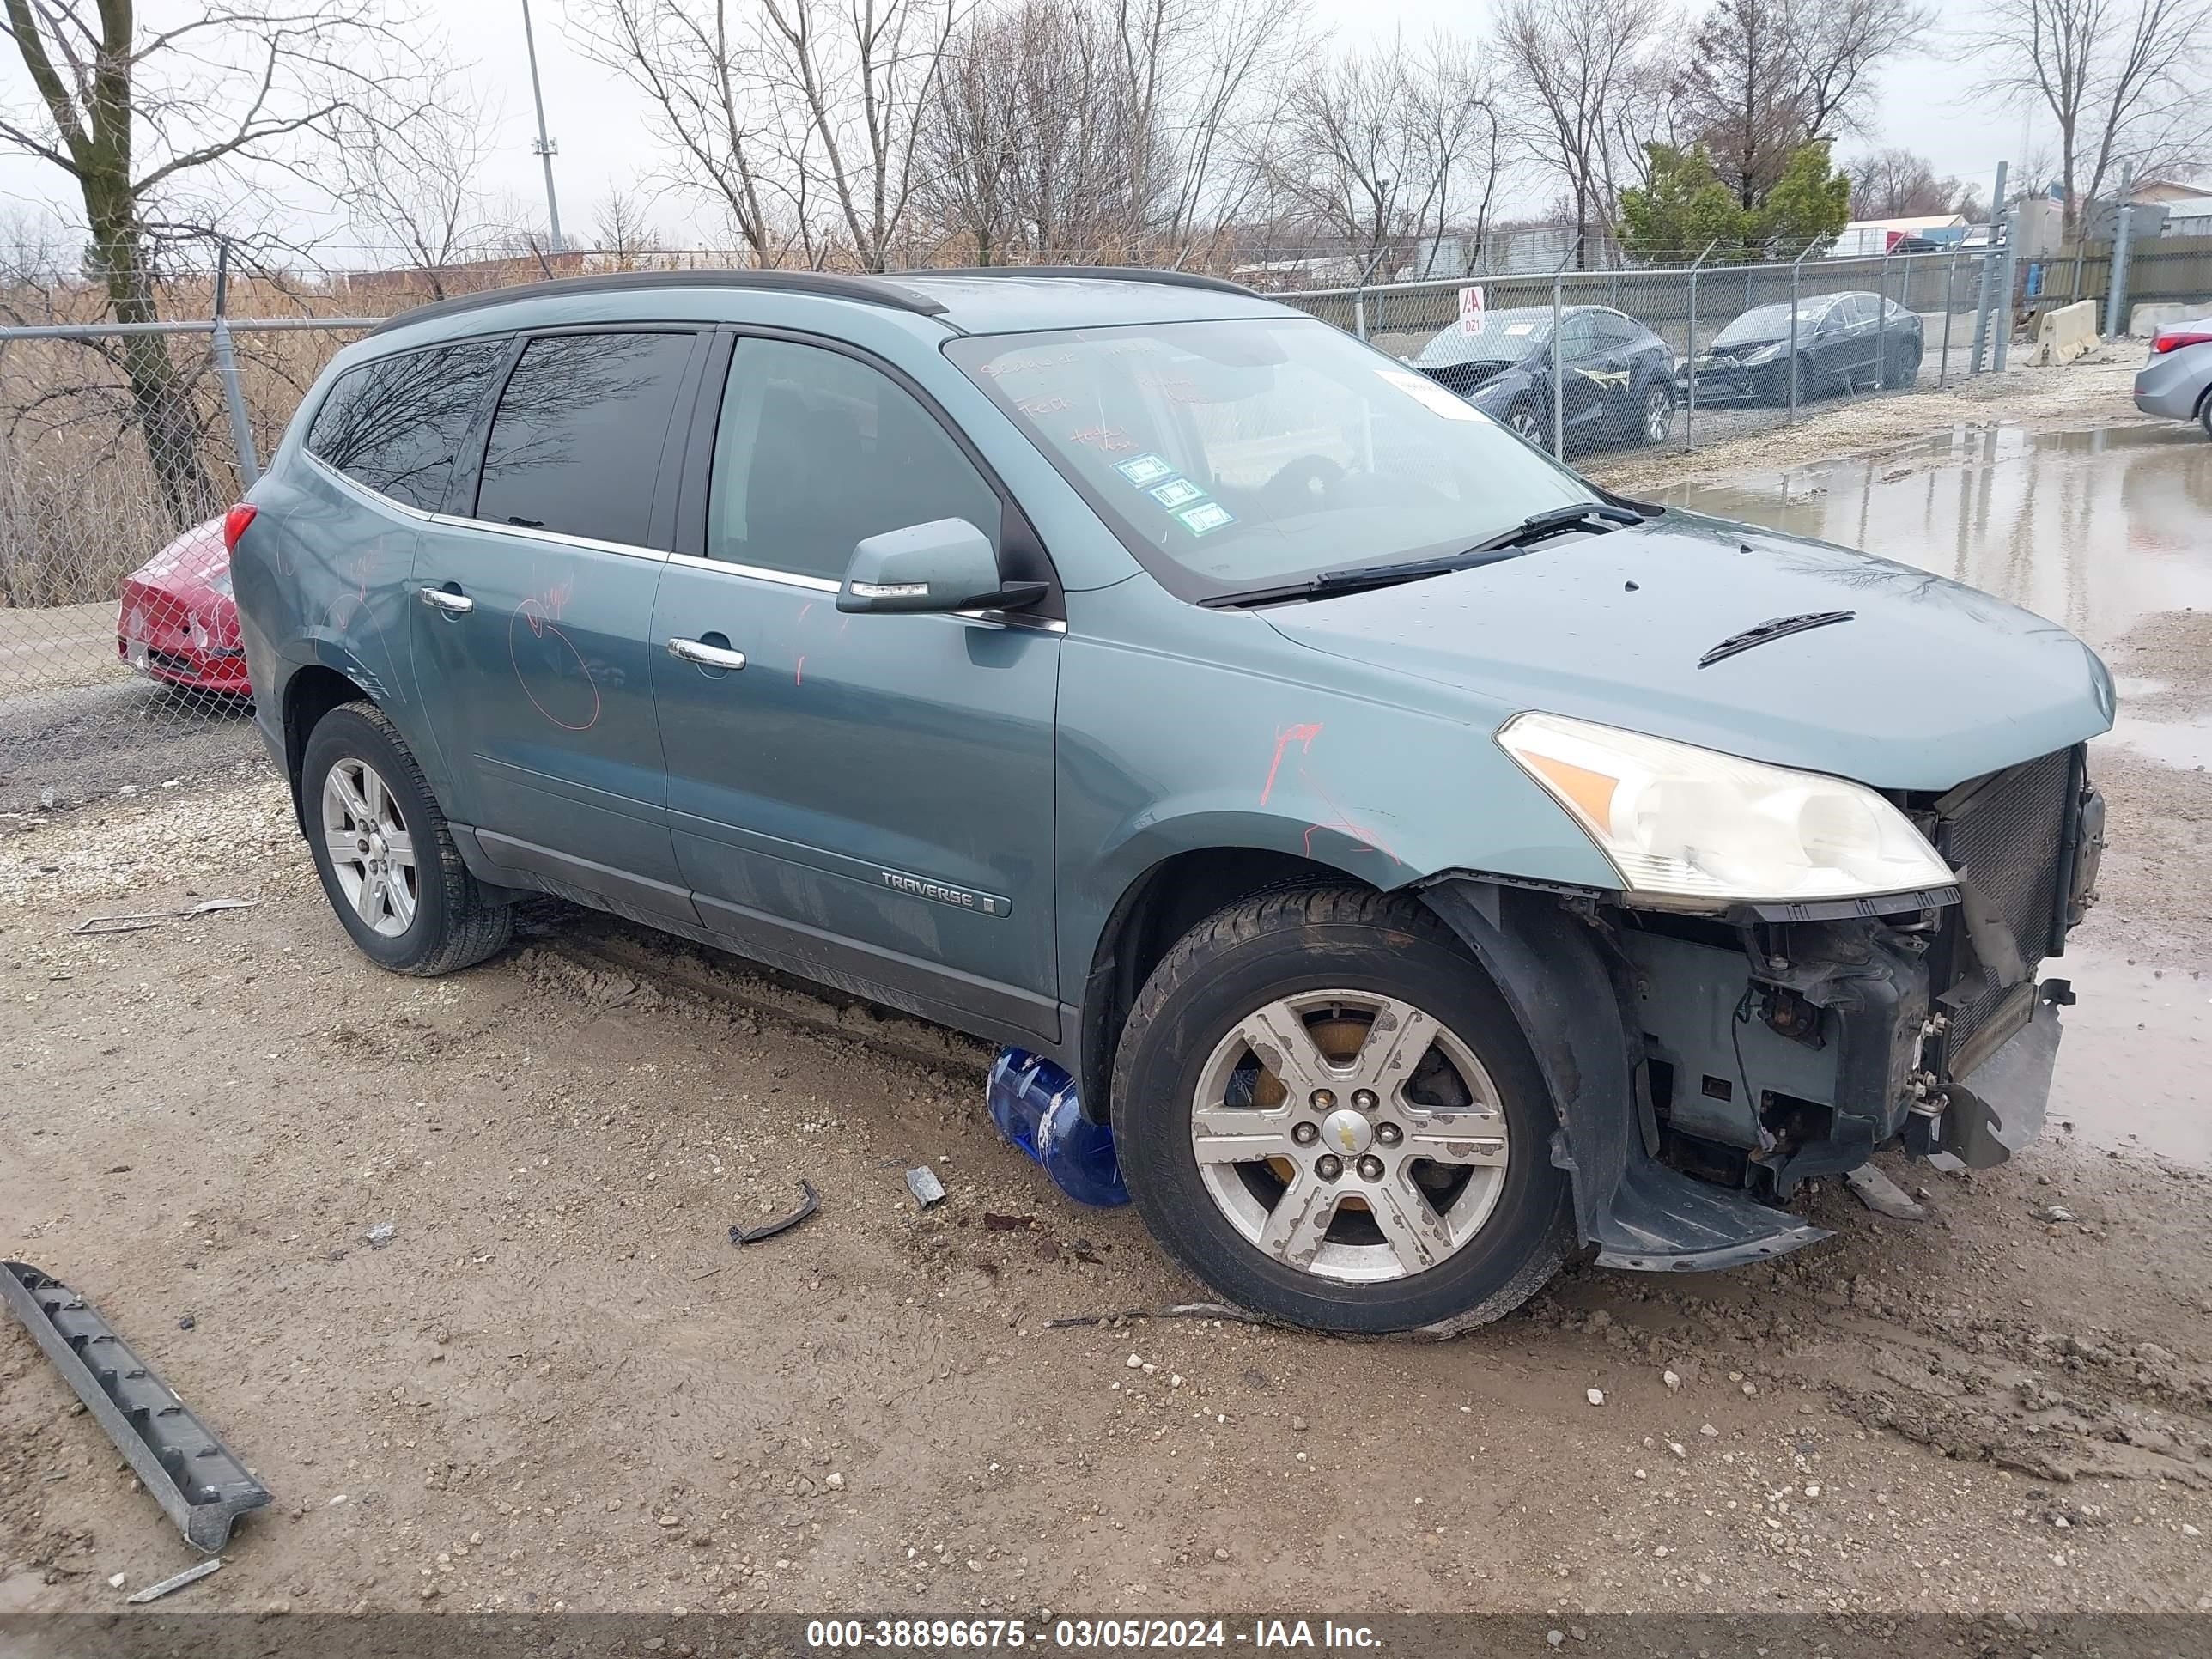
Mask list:
[[[307,453],[378,495],[438,511],[453,451],[504,354],[504,341],[471,341],[347,369],[314,411]]]

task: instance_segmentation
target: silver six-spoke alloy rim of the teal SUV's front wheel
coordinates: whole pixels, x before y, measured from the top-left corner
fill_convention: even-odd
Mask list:
[[[1469,1245],[1504,1188],[1500,1095],[1436,1015],[1303,991],[1239,1020],[1199,1073],[1190,1150],[1230,1225],[1321,1279],[1407,1279]]]

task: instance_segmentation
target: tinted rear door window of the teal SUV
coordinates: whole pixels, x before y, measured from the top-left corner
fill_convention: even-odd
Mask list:
[[[476,515],[644,546],[692,334],[546,334],[491,418]]]

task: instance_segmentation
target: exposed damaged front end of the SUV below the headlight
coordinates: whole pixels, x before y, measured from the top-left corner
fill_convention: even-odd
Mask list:
[[[1896,801],[1953,887],[1723,914],[1429,889],[1535,1035],[1601,1263],[1796,1250],[1825,1234],[1774,1206],[1809,1177],[1889,1146],[1989,1168],[2042,1128],[2073,991],[2037,969],[2095,900],[2104,849],[2084,748]],[[1617,1026],[1593,1018],[1606,1004]]]

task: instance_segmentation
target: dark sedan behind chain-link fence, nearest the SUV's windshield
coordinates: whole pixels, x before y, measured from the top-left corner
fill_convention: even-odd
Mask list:
[[[1551,449],[1548,305],[1453,323],[1409,363],[1493,420]],[[1559,312],[1562,425],[1568,453],[1655,445],[1674,429],[1674,354],[1637,319],[1604,305]]]

